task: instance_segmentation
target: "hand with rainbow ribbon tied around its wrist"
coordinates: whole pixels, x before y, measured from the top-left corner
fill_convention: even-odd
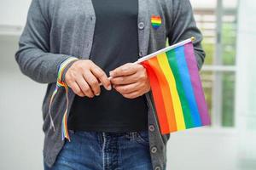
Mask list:
[[[111,90],[111,83],[104,71],[89,59],[79,59],[68,68],[65,75],[67,86],[80,97],[93,98],[101,93],[100,82]]]

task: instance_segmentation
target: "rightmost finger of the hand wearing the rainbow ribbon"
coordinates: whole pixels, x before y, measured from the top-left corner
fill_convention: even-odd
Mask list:
[[[102,71],[100,67],[94,64],[91,67],[90,71],[94,74],[96,78],[100,80],[100,82],[102,82],[104,88],[106,88],[107,90],[111,90],[111,82],[109,81],[106,73]]]

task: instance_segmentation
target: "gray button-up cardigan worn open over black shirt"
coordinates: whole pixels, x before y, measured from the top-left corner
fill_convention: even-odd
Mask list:
[[[201,32],[195,26],[189,0],[138,0],[137,20],[139,57],[194,36],[198,67],[204,61]],[[158,29],[151,26],[152,15],[160,15]],[[52,106],[55,132],[50,128],[49,99],[55,89],[58,66],[69,57],[88,59],[96,16],[91,0],[32,0],[26,26],[20,37],[15,59],[20,71],[34,81],[48,83],[42,106],[44,125],[44,161],[51,167],[60,152],[61,118],[66,107],[65,90],[60,88]],[[70,90],[67,116],[75,94]],[[170,135],[161,135],[151,92],[148,101],[148,133],[150,155],[155,170],[166,167],[166,142]]]

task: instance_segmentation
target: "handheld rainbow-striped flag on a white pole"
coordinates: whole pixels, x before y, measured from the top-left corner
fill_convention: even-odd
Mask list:
[[[192,38],[137,63],[148,72],[162,134],[210,124]]]

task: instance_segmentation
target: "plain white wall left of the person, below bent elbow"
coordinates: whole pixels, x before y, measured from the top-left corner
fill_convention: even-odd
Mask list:
[[[0,169],[40,170],[45,86],[21,75],[17,43],[18,37],[0,36]]]

